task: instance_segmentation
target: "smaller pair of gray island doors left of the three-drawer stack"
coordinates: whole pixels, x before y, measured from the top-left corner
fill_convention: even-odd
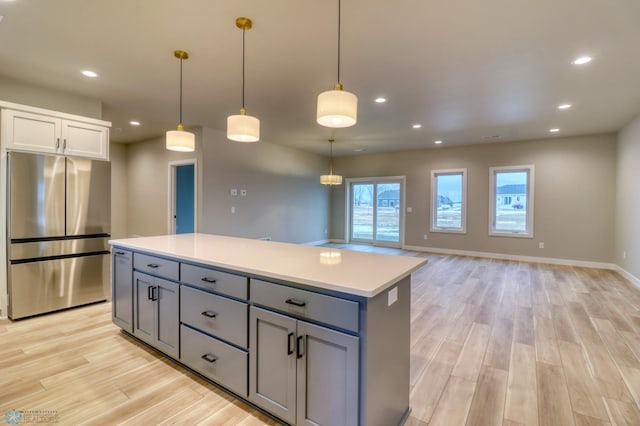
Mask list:
[[[180,341],[180,285],[134,272],[133,287],[133,335],[177,358]]]

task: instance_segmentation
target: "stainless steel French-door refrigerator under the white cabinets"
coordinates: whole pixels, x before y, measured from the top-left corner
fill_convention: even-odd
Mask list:
[[[10,152],[9,317],[109,299],[111,165]]]

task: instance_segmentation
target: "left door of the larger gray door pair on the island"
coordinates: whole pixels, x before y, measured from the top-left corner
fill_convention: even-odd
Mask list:
[[[252,306],[249,334],[249,399],[295,423],[296,320]]]

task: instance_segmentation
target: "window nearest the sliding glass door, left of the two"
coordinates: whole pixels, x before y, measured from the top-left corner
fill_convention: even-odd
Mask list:
[[[465,233],[467,169],[431,172],[431,232]]]

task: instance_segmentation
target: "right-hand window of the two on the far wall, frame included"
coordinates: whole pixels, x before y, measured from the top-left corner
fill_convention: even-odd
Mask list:
[[[489,235],[533,238],[533,166],[489,170]]]

